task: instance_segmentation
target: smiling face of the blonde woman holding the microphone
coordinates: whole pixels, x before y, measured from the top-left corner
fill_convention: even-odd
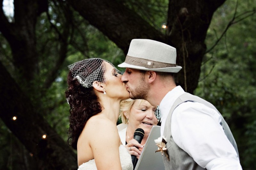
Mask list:
[[[145,137],[148,136],[153,125],[158,123],[154,114],[155,109],[147,100],[136,100],[129,112],[128,126],[132,126],[133,129],[141,128],[145,132]]]

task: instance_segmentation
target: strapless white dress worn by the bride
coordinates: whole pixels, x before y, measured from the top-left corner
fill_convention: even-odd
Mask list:
[[[133,170],[131,155],[128,153],[128,151],[122,144],[119,146],[119,155],[122,170]],[[83,163],[78,167],[78,170],[97,170],[95,160],[92,159],[89,160],[88,162]]]

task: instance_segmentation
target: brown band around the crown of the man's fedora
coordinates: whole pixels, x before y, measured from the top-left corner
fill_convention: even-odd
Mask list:
[[[132,64],[136,66],[146,67],[149,69],[161,69],[166,67],[176,67],[176,64],[163,63],[153,60],[147,60],[143,58],[132,57],[126,55],[124,63]]]

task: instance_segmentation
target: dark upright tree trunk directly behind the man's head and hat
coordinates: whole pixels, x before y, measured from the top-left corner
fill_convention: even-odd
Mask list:
[[[182,66],[175,81],[189,93],[193,93],[198,85],[206,51],[204,41],[212,15],[224,2],[173,0],[169,3],[167,43],[176,48],[176,63]]]

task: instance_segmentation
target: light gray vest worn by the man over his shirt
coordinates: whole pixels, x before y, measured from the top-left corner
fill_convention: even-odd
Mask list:
[[[175,142],[173,141],[172,138],[172,132],[171,132],[171,118],[172,118],[172,112],[173,110],[179,106],[181,103],[186,102],[186,101],[193,101],[193,102],[199,102],[204,104],[207,107],[215,109],[219,114],[220,112],[208,101],[201,99],[200,97],[194,96],[190,93],[184,93],[180,95],[180,97],[175,100],[174,104],[172,105],[172,108],[167,116],[165,126],[164,126],[164,136],[166,137],[166,148],[167,152],[169,154],[170,161],[167,161],[167,158],[164,155],[164,167],[166,169],[172,169],[172,170],[200,170],[204,169],[201,166],[199,166],[192,157],[188,155],[187,152],[182,150]],[[221,115],[221,114],[220,114]],[[238,155],[238,149],[236,145],[236,141],[228,127],[228,124],[225,122],[223,117],[221,116],[221,122],[220,125],[222,126],[225,135],[228,137],[228,140],[230,143],[234,146],[237,156]]]

